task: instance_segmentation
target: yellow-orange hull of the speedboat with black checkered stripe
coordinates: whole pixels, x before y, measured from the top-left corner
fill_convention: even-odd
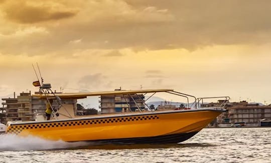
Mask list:
[[[214,109],[191,109],[21,122],[12,123],[7,133],[50,140],[107,142],[134,139],[148,141],[148,138],[159,139],[162,136],[168,139],[170,136],[174,141],[165,142],[180,142],[196,134],[221,112]],[[187,138],[182,138],[185,135]]]

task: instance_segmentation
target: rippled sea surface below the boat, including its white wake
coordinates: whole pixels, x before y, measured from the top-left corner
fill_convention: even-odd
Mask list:
[[[0,135],[0,151],[0,162],[271,162],[271,128],[208,128],[180,144],[163,145]]]

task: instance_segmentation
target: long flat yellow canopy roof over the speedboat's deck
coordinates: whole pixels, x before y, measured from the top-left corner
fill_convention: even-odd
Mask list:
[[[101,95],[119,95],[119,94],[135,94],[135,93],[155,93],[155,92],[167,92],[173,91],[173,89],[145,89],[145,90],[116,90],[116,91],[101,91],[101,92],[78,92],[78,93],[56,93],[55,95],[60,98],[86,98],[87,96],[101,96]],[[52,98],[54,94],[33,94],[34,97],[39,98]]]

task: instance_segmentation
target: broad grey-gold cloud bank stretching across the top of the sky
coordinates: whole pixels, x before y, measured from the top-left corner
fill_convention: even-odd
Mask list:
[[[271,41],[267,17],[271,1],[6,1],[1,6],[0,35],[20,29],[46,29],[46,35],[1,39],[3,54],[119,49],[187,49],[215,45],[259,45]],[[110,14],[108,14],[110,13]],[[66,19],[67,18],[67,19]],[[16,23],[14,23],[16,22]],[[71,42],[80,38],[80,44]],[[1,41],[3,40],[3,41]],[[26,41],[27,40],[27,41]],[[16,48],[13,48],[16,47]]]

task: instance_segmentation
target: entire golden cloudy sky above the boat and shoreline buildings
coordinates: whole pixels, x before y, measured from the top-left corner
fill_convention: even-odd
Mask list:
[[[271,103],[271,1],[0,0],[0,97],[172,88]],[[180,101],[179,97],[163,96]]]

